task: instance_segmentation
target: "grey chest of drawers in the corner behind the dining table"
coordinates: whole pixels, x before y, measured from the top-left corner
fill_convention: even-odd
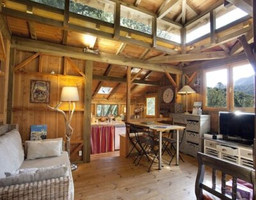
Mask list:
[[[210,115],[186,115],[186,114],[170,114],[173,123],[186,124],[186,132],[180,144],[180,152],[196,157],[197,152],[203,151],[204,133],[210,131],[211,116]],[[182,131],[180,131],[180,138]]]

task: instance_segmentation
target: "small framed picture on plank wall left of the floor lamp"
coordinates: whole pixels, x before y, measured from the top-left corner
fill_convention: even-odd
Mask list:
[[[30,103],[50,103],[51,82],[44,80],[30,81]]]

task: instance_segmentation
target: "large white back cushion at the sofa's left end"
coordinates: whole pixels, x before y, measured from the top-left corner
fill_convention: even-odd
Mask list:
[[[6,132],[0,136],[0,178],[4,172],[16,171],[24,161],[24,150],[20,134],[17,130]]]

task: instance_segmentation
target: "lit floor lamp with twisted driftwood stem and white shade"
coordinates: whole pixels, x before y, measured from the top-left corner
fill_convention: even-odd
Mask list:
[[[68,102],[68,117],[66,113],[59,108],[62,101]],[[59,111],[60,113],[63,114],[64,120],[65,120],[65,127],[66,127],[65,134],[67,138],[67,152],[68,152],[69,159],[70,159],[70,138],[74,131],[74,129],[71,127],[70,124],[71,124],[74,111],[76,109],[76,104],[75,104],[76,101],[79,101],[79,94],[78,94],[77,87],[63,87],[61,90],[60,103],[58,103],[56,107],[48,106],[52,110]],[[71,110],[71,102],[73,103],[72,110]],[[71,164],[71,169],[72,171],[77,169],[77,165]]]

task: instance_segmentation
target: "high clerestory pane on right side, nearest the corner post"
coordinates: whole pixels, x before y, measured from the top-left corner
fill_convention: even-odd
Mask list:
[[[198,20],[198,22],[195,25],[191,25],[191,27],[188,27],[186,35],[187,43],[211,32],[209,18],[210,15],[207,14],[204,16],[204,18],[200,18],[200,20]]]

